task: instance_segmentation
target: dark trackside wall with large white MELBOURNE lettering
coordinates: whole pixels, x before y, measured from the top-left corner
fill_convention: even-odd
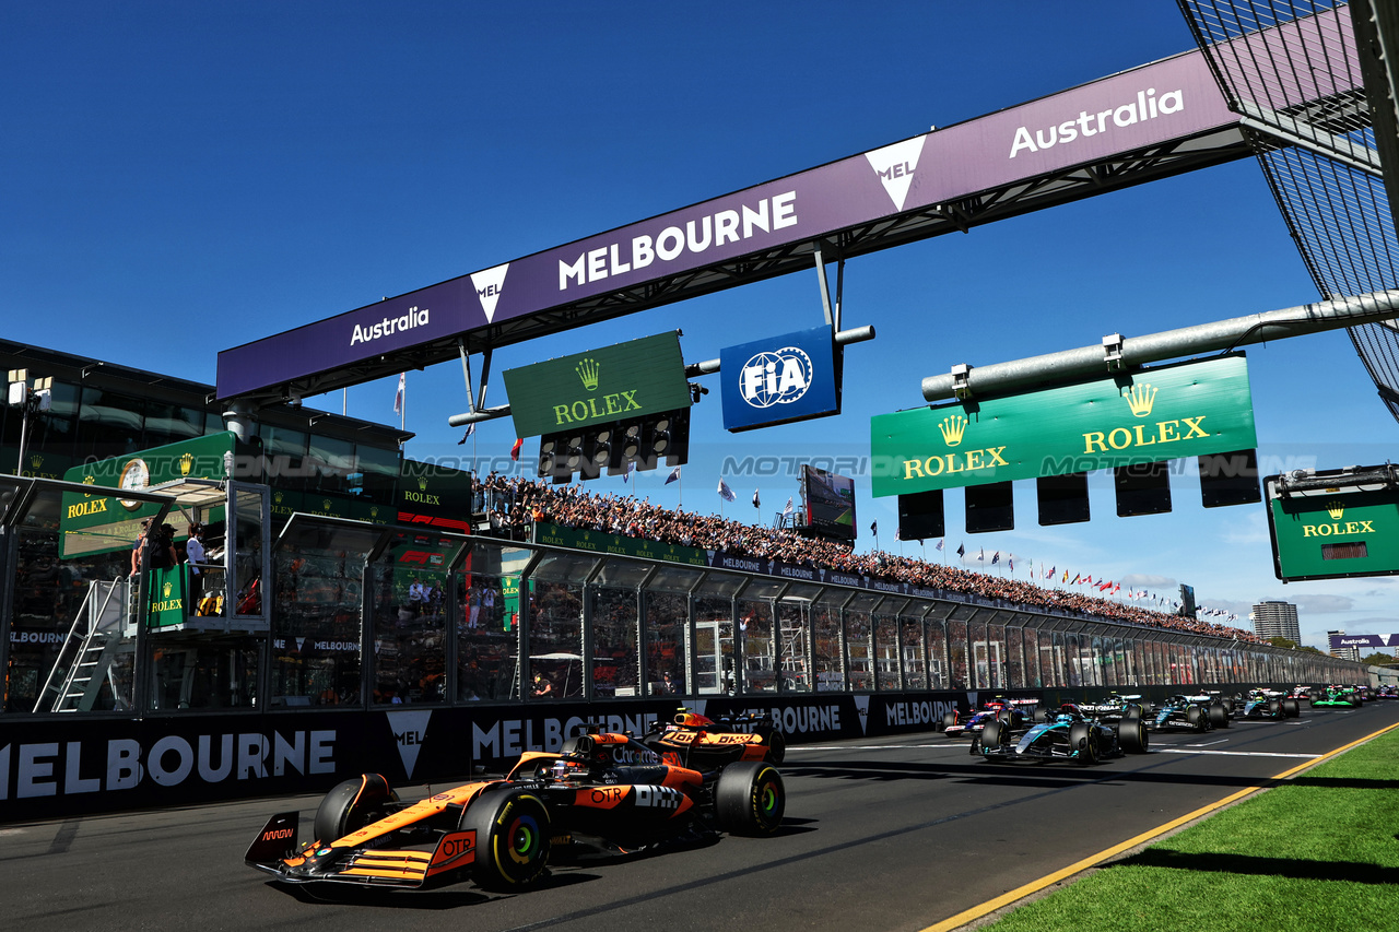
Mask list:
[[[1165,698],[1170,691],[1143,690],[1151,698]],[[1059,704],[1104,693],[1003,694]],[[499,772],[526,750],[557,750],[585,723],[641,735],[652,722],[669,721],[680,707],[711,718],[758,712],[781,728],[789,744],[929,733],[946,712],[968,711],[997,694],[831,693],[771,700],[10,721],[0,735],[0,823],[319,793],[360,772],[381,772],[393,785],[459,784],[471,778],[474,767]]]

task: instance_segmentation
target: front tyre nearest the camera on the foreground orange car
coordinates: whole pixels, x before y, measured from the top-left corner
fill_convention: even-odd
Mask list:
[[[548,807],[526,789],[487,789],[467,803],[459,828],[476,831],[471,879],[487,890],[519,890],[548,866]]]

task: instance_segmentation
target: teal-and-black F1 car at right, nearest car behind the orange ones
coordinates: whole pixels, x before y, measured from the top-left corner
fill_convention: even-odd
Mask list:
[[[1074,702],[1065,702],[1049,722],[1041,722],[1023,733],[992,721],[981,732],[974,750],[989,761],[1037,763],[1069,760],[1076,764],[1095,764],[1123,754],[1147,751],[1147,730],[1140,718],[1122,718],[1115,725],[1100,722],[1083,714]]]

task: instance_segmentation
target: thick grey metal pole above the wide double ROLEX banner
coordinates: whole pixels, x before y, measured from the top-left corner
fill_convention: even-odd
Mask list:
[[[1132,369],[1184,355],[1228,351],[1254,343],[1379,323],[1393,318],[1399,318],[1399,290],[1374,291],[1140,337],[1122,337],[1121,347],[1116,343],[1112,347],[1086,346],[1014,362],[965,368],[960,365],[947,375],[925,378],[923,397],[939,402],[950,397],[1016,392],[1045,383],[1105,375],[1116,371],[1115,367]]]

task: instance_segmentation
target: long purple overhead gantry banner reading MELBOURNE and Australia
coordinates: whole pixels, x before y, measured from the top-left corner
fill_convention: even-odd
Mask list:
[[[1237,123],[1179,55],[218,354],[218,397]]]

